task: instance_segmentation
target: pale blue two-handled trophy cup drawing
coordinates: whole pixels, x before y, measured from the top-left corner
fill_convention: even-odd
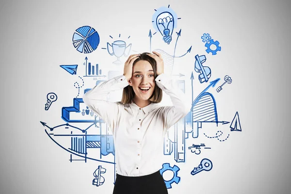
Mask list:
[[[107,51],[110,55],[115,55],[117,57],[117,60],[113,62],[113,64],[120,65],[122,62],[119,60],[119,58],[124,55],[127,57],[129,55],[129,51],[131,49],[131,43],[126,46],[126,42],[122,40],[116,40],[111,44],[107,43]]]

